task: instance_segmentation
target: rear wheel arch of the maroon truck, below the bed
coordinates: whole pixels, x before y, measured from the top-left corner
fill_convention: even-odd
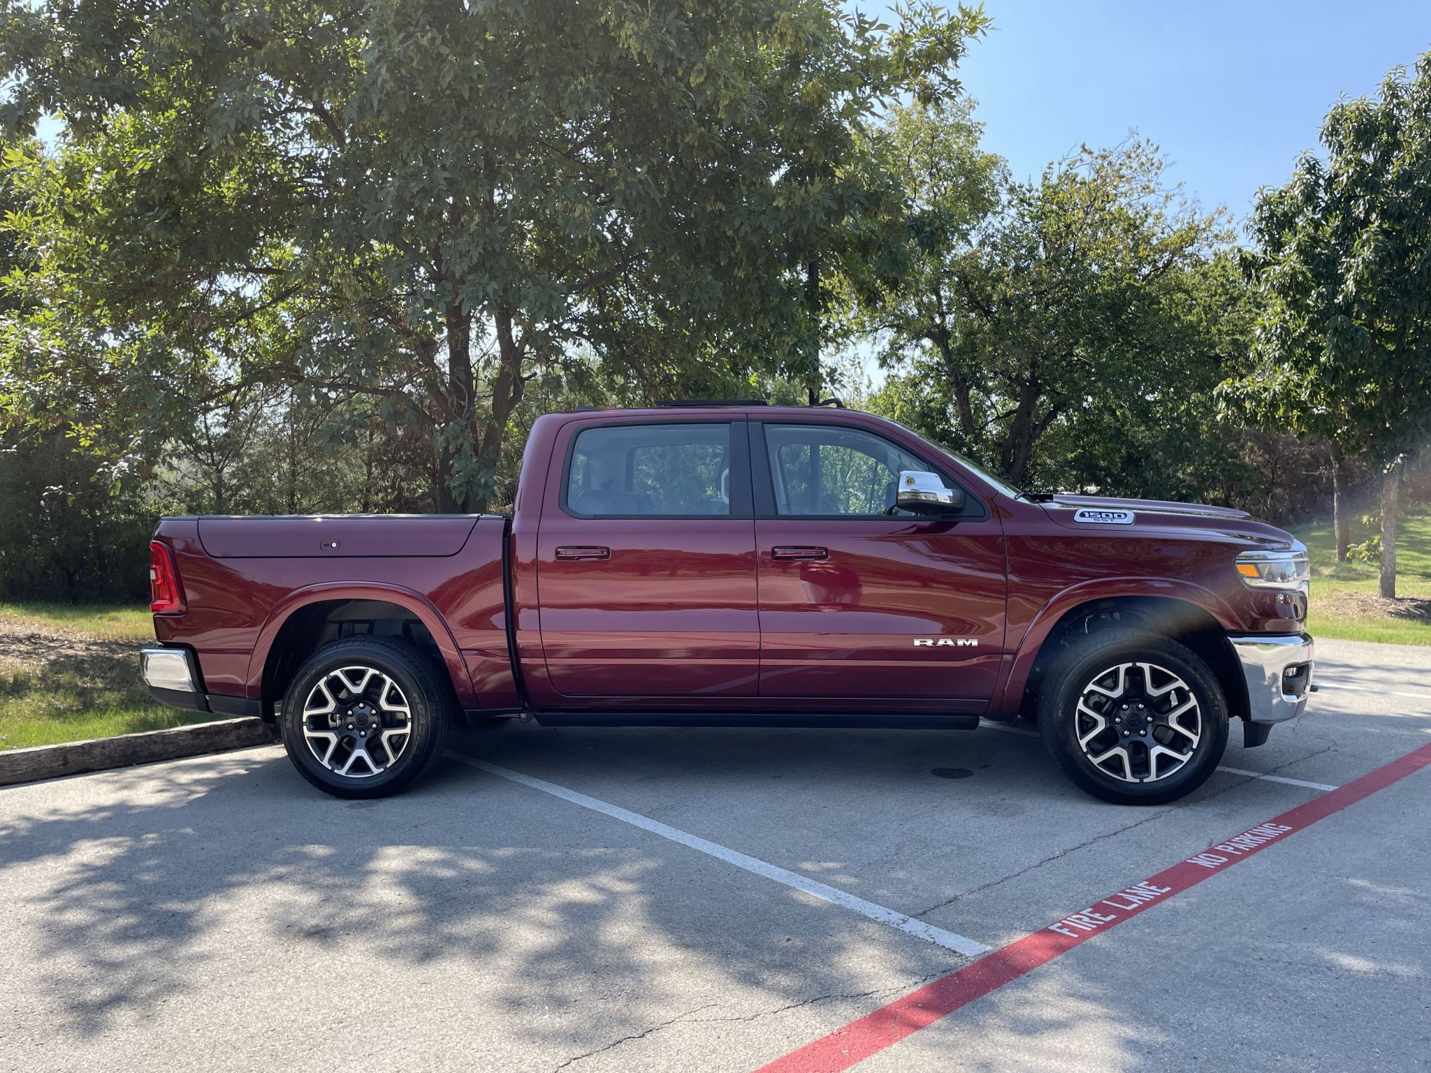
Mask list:
[[[343,632],[345,622],[355,624],[352,632]],[[368,628],[358,631],[356,624]],[[273,607],[249,657],[248,695],[256,697],[263,717],[272,720],[273,704],[283,697],[293,672],[318,648],[379,631],[426,650],[446,671],[458,708],[475,707],[462,652],[446,619],[426,597],[398,585],[345,582],[296,589]]]

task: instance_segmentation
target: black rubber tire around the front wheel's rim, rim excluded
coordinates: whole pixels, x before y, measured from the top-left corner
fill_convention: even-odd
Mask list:
[[[1078,744],[1075,710],[1083,687],[1099,671],[1122,662],[1152,662],[1182,678],[1198,698],[1202,740],[1193,757],[1156,783],[1125,783],[1096,768]],[[1216,770],[1228,744],[1228,705],[1212,670],[1191,650],[1159,637],[1092,638],[1053,670],[1052,692],[1040,704],[1045,743],[1068,775],[1088,793],[1119,804],[1165,804],[1191,794]]]

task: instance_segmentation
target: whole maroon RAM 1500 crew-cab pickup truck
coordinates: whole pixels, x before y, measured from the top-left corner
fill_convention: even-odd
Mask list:
[[[1030,495],[907,428],[728,402],[551,413],[511,516],[165,518],[142,672],[276,720],[341,797],[452,724],[1036,724],[1155,804],[1298,715],[1307,549],[1242,511]]]

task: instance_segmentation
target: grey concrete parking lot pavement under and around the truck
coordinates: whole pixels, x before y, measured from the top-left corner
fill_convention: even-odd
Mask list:
[[[1344,688],[1264,748],[1234,730],[1225,767],[1341,785],[1431,741],[1431,652],[1318,657]],[[993,728],[512,725],[456,754],[384,801],[276,748],[0,791],[0,1069],[754,1069],[972,963],[940,936],[1017,940],[1322,793],[1221,771],[1120,808]],[[1428,785],[860,1069],[1425,1067]]]

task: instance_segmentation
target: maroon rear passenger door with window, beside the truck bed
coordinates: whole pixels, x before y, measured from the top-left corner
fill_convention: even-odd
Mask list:
[[[537,555],[542,650],[558,694],[756,694],[760,622],[743,421],[567,425]]]

